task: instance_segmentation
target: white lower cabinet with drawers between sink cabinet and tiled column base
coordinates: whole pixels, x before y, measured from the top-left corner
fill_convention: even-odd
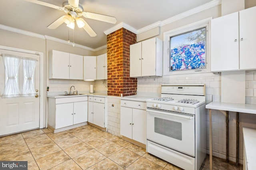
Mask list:
[[[88,122],[106,127],[106,100],[104,97],[88,97]]]

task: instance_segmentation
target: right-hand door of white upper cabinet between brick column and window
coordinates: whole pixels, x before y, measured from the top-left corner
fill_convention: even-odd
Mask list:
[[[156,75],[156,38],[142,42],[141,75]]]

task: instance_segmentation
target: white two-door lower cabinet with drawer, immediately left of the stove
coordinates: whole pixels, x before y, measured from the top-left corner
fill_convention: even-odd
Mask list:
[[[146,102],[121,100],[120,134],[146,144]]]

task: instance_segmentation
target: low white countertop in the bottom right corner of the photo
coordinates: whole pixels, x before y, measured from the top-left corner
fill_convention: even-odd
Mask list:
[[[243,127],[243,134],[247,168],[254,170],[256,167],[256,129]]]

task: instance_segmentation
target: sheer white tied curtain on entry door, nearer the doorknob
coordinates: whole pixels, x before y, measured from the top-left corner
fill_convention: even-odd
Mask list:
[[[23,84],[23,96],[32,96],[35,92],[34,86],[34,70],[36,65],[36,59],[23,58],[23,70],[24,70],[24,84]]]

